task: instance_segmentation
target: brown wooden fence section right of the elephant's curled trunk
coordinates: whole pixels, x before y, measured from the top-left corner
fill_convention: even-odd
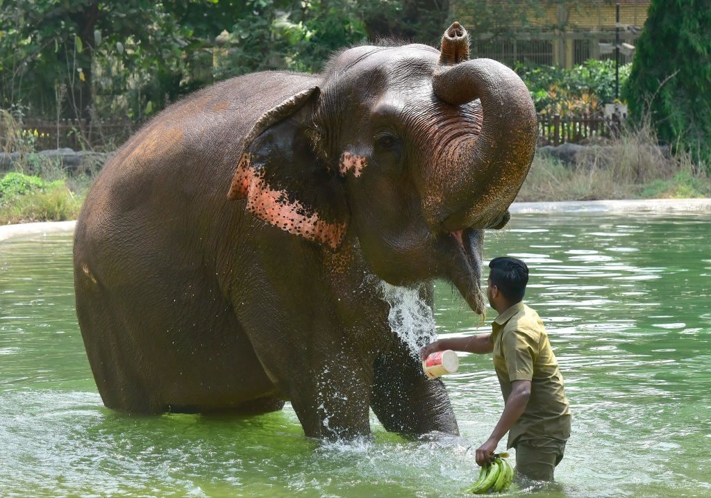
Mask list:
[[[560,117],[538,115],[538,144],[579,143],[593,138],[616,136],[619,122],[605,117]]]

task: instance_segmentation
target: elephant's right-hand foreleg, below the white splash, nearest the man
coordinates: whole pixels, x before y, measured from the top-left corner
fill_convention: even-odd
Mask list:
[[[380,423],[392,432],[459,435],[444,384],[439,378],[427,378],[422,364],[404,346],[376,359],[370,403]]]

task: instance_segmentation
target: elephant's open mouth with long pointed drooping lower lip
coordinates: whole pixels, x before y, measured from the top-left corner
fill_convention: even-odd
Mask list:
[[[453,245],[454,260],[449,277],[461,292],[469,307],[482,316],[486,312],[486,300],[481,292],[481,248],[484,231],[465,228],[449,233]]]

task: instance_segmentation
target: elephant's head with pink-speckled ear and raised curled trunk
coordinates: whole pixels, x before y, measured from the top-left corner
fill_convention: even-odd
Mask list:
[[[508,221],[536,134],[523,82],[494,60],[469,60],[454,23],[441,51],[336,54],[320,85],[260,117],[230,197],[334,250],[348,234],[393,285],[449,280],[481,314],[483,230]]]

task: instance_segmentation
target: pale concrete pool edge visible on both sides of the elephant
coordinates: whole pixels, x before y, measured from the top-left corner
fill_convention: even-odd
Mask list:
[[[612,212],[680,212],[710,211],[711,198],[693,199],[643,199],[635,201],[558,201],[515,202],[509,211],[527,213],[612,213]],[[76,221],[43,221],[0,226],[0,242],[23,235],[46,235],[47,233],[71,232]]]

